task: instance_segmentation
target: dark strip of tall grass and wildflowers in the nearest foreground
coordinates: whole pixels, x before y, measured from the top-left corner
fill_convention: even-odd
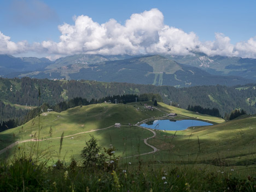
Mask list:
[[[14,159],[0,165],[0,191],[256,191],[255,175],[205,167],[125,164],[116,170],[85,168],[72,161]]]

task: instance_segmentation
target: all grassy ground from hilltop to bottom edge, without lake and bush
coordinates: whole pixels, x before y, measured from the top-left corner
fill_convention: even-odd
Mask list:
[[[43,113],[1,132],[0,151],[20,143],[0,154],[0,191],[256,191],[255,115],[225,122],[161,102],[152,111],[144,103],[154,104],[100,103]],[[178,115],[170,119],[214,125],[154,130],[148,143],[159,150],[151,153],[143,141],[153,133],[135,125],[171,112]],[[81,153],[90,135],[106,153],[115,148],[118,166],[109,168],[113,158],[85,166]]]

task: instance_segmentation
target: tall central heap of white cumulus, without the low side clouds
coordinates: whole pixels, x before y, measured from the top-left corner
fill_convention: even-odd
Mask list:
[[[186,55],[200,46],[195,33],[164,25],[164,15],[158,9],[132,14],[125,25],[114,19],[100,25],[84,15],[74,18],[74,21],[74,25],[59,26],[59,43],[44,41],[43,48],[51,54]]]

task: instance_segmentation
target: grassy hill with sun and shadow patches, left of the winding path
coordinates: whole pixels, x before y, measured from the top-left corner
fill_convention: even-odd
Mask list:
[[[153,102],[147,103],[153,105]],[[130,127],[128,124],[133,125],[144,119],[162,117],[170,112],[181,114],[176,117],[178,119],[190,118],[197,115],[197,118],[205,118],[208,121],[213,121],[213,123],[223,121],[220,118],[208,117],[207,115],[200,115],[188,112],[187,110],[168,107],[164,103],[160,103],[158,109],[159,110],[155,109],[153,111],[147,110],[144,108],[144,102],[126,105],[102,103],[75,107],[61,113],[43,113],[40,115],[40,118],[37,117],[23,126],[1,132],[0,149],[9,146],[15,141],[39,138],[44,140],[39,142],[41,152],[46,153],[46,156],[51,156],[53,153],[56,155],[56,152],[59,152],[60,137],[64,132],[65,138],[63,139],[61,154],[59,154],[61,158],[66,156],[66,158],[69,159],[71,155],[79,158],[79,154],[85,145],[85,141],[89,139],[90,134],[96,136],[100,144],[104,147],[113,144],[113,146],[118,149],[118,155],[131,156],[151,152],[152,148],[146,146],[143,143],[143,139],[153,134],[139,127]],[[184,115],[187,115],[187,117]],[[121,123],[121,129],[109,127],[113,126],[115,123]],[[40,133],[38,127],[40,127]],[[102,130],[89,132],[97,129]],[[27,149],[34,148],[32,146],[34,144],[36,144],[36,142],[31,141],[20,143],[19,146]],[[8,154],[11,154],[14,149],[15,148],[8,150]]]

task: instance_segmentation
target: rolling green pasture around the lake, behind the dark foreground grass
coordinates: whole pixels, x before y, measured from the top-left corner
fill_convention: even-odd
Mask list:
[[[79,155],[85,146],[85,141],[89,140],[90,135],[94,135],[101,146],[109,148],[112,144],[117,149],[115,154],[121,158],[133,156],[121,159],[121,162],[139,160],[155,162],[159,165],[207,166],[216,170],[219,170],[219,167],[223,170],[235,167],[234,169],[244,173],[256,170],[255,116],[225,122],[221,118],[190,112],[164,103],[158,103],[157,109],[151,111],[144,108],[144,103],[153,105],[153,102],[102,103],[75,107],[61,113],[43,113],[40,118],[37,117],[23,126],[1,132],[0,150],[15,141],[33,138],[43,141],[20,143],[6,150],[1,157],[11,158],[15,152],[22,151],[39,154],[42,158],[53,162],[57,159],[65,159],[68,162],[72,156],[80,160]],[[149,139],[148,143],[159,151],[139,156],[139,154],[153,151],[143,141],[144,138],[152,137],[153,133],[133,125],[144,119],[164,117],[171,112],[178,114],[174,118],[176,120],[197,119],[214,125],[190,127],[177,132],[155,131],[156,137]],[[115,123],[121,123],[122,126],[114,127]],[[38,127],[40,127],[40,133]],[[60,152],[62,133],[64,137]]]

